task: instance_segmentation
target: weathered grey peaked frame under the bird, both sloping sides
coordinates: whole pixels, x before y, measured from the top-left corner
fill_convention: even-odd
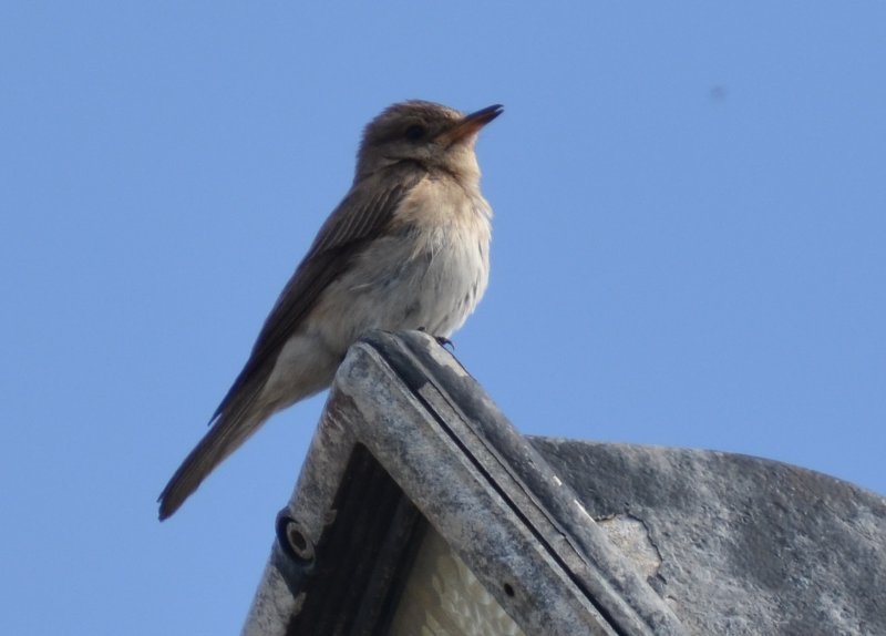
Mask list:
[[[364,538],[338,522],[336,503],[357,448],[368,451],[526,634],[686,634],[647,577],[482,387],[419,332],[372,334],[349,350],[286,510],[300,529],[299,543],[317,546],[316,562],[300,570],[280,561],[278,541],[244,634],[316,633],[307,608],[326,597],[312,587],[318,579],[309,571],[333,571],[324,565],[331,554],[323,547],[334,543],[333,534],[349,545]]]

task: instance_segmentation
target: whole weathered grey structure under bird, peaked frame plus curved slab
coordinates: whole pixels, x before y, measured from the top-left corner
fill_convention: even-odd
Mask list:
[[[244,628],[384,634],[431,524],[527,634],[886,634],[886,500],[713,451],[522,437],[423,334],[337,375]]]

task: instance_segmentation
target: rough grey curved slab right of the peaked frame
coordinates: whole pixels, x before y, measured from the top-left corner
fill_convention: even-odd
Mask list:
[[[688,630],[886,635],[886,499],[745,455],[530,441]]]

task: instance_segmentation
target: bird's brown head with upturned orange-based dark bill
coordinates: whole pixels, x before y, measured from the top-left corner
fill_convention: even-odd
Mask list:
[[[477,178],[474,142],[480,130],[502,111],[495,104],[465,115],[433,102],[393,104],[365,127],[357,156],[356,179],[404,161],[443,170],[456,177]]]

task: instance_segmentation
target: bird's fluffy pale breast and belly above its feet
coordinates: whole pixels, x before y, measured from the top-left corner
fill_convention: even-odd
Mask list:
[[[424,328],[449,336],[474,310],[488,280],[491,209],[480,192],[425,179],[321,301],[332,339]]]

